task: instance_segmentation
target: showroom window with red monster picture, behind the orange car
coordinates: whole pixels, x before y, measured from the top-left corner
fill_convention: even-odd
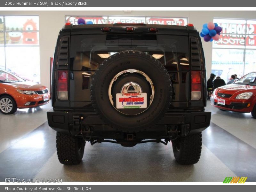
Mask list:
[[[0,69],[40,83],[39,17],[0,16]]]

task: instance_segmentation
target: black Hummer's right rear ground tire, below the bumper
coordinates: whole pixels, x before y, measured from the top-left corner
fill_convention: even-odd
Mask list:
[[[196,164],[202,150],[202,132],[172,140],[172,149],[179,164]]]

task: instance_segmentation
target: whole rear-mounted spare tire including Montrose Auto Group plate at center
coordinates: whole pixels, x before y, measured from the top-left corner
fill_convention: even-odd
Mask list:
[[[171,98],[168,72],[145,52],[118,52],[92,76],[91,100],[96,112],[106,123],[126,131],[156,124]]]

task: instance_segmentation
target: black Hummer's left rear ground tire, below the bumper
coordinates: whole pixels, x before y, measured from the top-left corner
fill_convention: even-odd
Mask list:
[[[85,141],[82,138],[57,132],[56,147],[60,163],[76,165],[84,156]]]

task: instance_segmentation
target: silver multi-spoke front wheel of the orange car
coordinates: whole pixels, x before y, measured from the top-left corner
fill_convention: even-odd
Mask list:
[[[5,115],[15,113],[17,111],[17,104],[15,100],[9,95],[0,97],[0,111]]]

